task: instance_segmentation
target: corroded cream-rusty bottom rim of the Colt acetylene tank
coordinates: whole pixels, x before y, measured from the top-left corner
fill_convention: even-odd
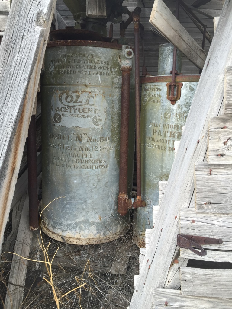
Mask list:
[[[74,238],[74,237],[69,237],[69,236],[63,236],[59,235],[57,233],[54,233],[53,231],[50,231],[47,227],[45,227],[44,223],[41,222],[41,227],[43,232],[48,235],[49,237],[63,242],[62,237],[67,241],[67,243],[73,244],[73,245],[94,245],[98,243],[107,243],[113,240],[118,239],[122,235],[124,235],[127,231],[128,228],[124,228],[122,231],[117,232],[115,234],[109,235],[109,236],[97,236],[94,238]]]

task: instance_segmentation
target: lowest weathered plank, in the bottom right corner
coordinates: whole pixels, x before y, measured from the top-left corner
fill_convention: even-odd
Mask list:
[[[173,309],[230,309],[231,299],[217,297],[199,297],[183,295],[181,291],[155,289],[153,293],[153,309],[173,308]],[[165,302],[168,304],[165,305]]]

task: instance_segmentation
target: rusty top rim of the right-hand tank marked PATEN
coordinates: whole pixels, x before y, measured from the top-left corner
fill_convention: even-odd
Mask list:
[[[176,75],[175,82],[191,82],[198,83],[200,75]],[[170,83],[172,75],[147,76],[140,78],[140,83]]]

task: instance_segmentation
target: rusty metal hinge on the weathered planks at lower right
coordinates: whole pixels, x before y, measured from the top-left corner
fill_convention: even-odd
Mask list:
[[[218,244],[222,243],[222,239],[218,238],[210,238],[210,237],[203,237],[203,236],[195,236],[195,235],[183,235],[179,234],[177,235],[177,245],[180,248],[186,248],[191,250],[193,253],[199,255],[199,256],[204,256],[207,254],[206,250],[202,248],[201,245],[206,245],[206,244]],[[200,249],[200,251],[197,251],[195,248]]]

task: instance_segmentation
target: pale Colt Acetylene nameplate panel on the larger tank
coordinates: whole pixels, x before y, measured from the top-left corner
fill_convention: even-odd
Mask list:
[[[101,128],[106,118],[107,103],[102,94],[93,91],[59,91],[51,99],[54,125],[79,128]]]

